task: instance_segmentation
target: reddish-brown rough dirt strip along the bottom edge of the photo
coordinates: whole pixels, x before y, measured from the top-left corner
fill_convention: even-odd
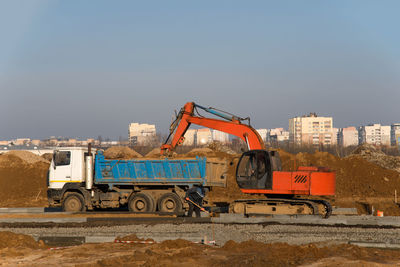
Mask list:
[[[65,263],[80,267],[95,266],[398,266],[400,251],[363,248],[354,245],[288,245],[256,241],[228,241],[222,248],[169,240],[160,244],[126,245],[115,243],[84,244],[59,250],[27,251],[24,257],[3,253],[5,266]]]

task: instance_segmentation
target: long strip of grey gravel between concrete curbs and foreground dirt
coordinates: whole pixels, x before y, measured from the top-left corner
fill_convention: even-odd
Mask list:
[[[203,238],[215,240],[223,245],[228,240],[237,242],[256,240],[265,243],[286,242],[293,245],[334,242],[378,242],[399,244],[400,229],[323,227],[293,225],[226,225],[226,224],[156,224],[125,225],[93,228],[2,228],[41,236],[126,236],[136,234],[139,238],[152,238],[155,241],[186,239],[200,241]]]

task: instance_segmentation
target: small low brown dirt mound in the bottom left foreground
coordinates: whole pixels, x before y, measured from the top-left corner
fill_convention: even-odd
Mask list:
[[[0,249],[2,248],[43,248],[43,243],[36,242],[28,235],[15,234],[13,232],[0,232]]]

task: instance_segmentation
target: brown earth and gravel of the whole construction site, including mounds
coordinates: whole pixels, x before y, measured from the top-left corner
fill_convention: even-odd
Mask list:
[[[159,158],[158,152],[152,151],[146,157]],[[198,221],[166,216],[156,223],[149,216],[144,218],[147,221],[121,223],[134,221],[137,215],[0,214],[0,266],[400,265],[400,228],[396,217],[400,208],[395,203],[396,192],[400,192],[398,157],[386,156],[371,147],[358,148],[345,158],[326,152],[279,152],[284,170],[314,165],[336,171],[336,195],[325,199],[336,208],[355,210],[358,216],[323,220],[227,214]],[[113,148],[105,155],[118,159],[142,156],[127,148]],[[228,186],[209,192],[211,204],[264,197],[242,194],[237,187],[235,166],[240,155],[215,148],[172,155],[194,156],[233,163],[227,173]],[[47,207],[49,159],[48,155],[44,158],[29,152],[0,155],[0,208]],[[376,217],[378,210],[383,211],[383,218]],[[49,218],[61,221],[51,222]],[[76,221],[66,222],[71,219]],[[114,243],[115,239],[135,242]],[[216,244],[194,243],[201,240],[215,240]],[[59,245],[62,248],[50,249]]]

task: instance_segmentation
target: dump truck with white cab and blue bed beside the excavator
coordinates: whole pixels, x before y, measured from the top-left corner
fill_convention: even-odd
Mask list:
[[[128,207],[131,212],[182,213],[185,192],[226,186],[228,163],[206,157],[108,160],[102,150],[59,148],[48,172],[50,207],[80,212]]]

